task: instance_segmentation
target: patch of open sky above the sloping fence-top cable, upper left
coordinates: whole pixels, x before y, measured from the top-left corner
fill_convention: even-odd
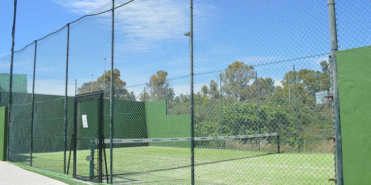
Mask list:
[[[107,0],[18,0],[15,49],[43,37],[69,21],[102,6]],[[10,53],[13,24],[13,1],[4,0],[0,7],[0,57]]]

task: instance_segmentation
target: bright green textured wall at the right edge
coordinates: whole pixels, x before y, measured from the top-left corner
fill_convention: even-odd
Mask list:
[[[371,46],[337,52],[344,185],[371,182]]]

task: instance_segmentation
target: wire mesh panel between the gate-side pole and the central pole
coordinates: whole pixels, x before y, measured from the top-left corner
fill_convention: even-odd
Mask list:
[[[190,137],[188,4],[135,0],[115,9],[114,139]],[[113,147],[114,183],[190,181],[190,141]]]

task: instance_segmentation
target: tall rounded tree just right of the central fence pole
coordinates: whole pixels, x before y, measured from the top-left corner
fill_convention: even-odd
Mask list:
[[[228,65],[224,73],[220,73],[223,82],[223,91],[227,95],[233,95],[237,101],[247,101],[249,98],[250,80],[255,78],[254,67],[235,61]]]

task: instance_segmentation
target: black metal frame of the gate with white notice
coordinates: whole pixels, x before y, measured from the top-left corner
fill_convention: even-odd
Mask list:
[[[76,176],[76,139],[77,139],[77,106],[76,103],[81,100],[98,98],[98,180],[88,179]],[[73,139],[73,178],[90,181],[95,183],[102,183],[102,130],[103,130],[103,91],[91,92],[87,94],[76,95],[74,98],[73,105],[73,130],[74,130],[74,139]]]

